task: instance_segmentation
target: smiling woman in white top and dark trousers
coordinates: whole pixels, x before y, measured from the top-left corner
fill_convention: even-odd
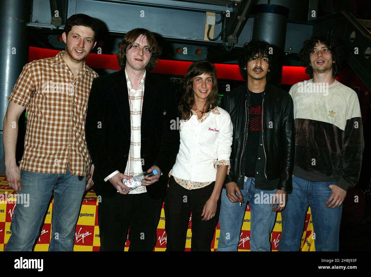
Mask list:
[[[229,174],[232,122],[217,106],[216,69],[196,61],[183,78],[179,105],[180,149],[165,198],[167,251],[184,251],[192,213],[191,251],[210,251],[218,223],[220,192]]]

